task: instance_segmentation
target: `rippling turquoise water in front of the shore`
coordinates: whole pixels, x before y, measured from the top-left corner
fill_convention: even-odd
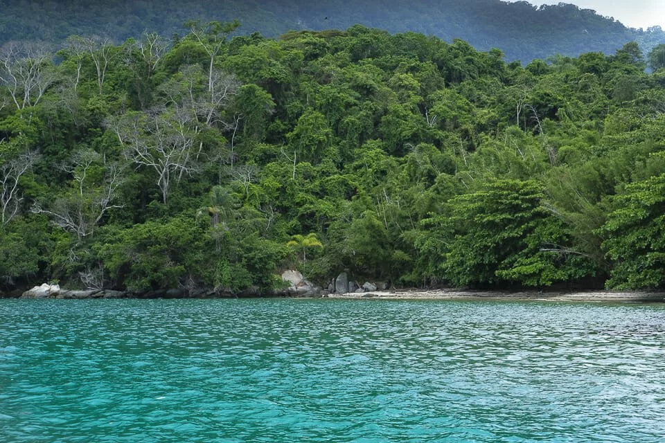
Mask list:
[[[0,300],[0,442],[665,442],[665,307]]]

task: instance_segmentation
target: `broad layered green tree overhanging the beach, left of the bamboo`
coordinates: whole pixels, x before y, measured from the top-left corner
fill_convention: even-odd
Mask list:
[[[452,199],[450,213],[425,222],[443,231],[439,277],[456,286],[541,287],[567,280],[566,235],[541,206],[543,197],[536,181],[502,179]]]

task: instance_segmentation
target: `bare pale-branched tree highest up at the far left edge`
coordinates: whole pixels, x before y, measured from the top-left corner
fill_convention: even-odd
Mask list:
[[[0,83],[17,109],[35,106],[55,81],[52,55],[44,46],[9,42],[0,49]]]

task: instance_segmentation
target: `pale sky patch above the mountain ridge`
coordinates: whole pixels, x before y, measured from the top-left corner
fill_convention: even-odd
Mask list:
[[[517,0],[508,0],[517,1]],[[573,3],[584,9],[593,9],[599,15],[614,17],[630,28],[648,28],[662,26],[665,28],[665,0],[526,0],[533,5],[556,5],[557,3]]]

